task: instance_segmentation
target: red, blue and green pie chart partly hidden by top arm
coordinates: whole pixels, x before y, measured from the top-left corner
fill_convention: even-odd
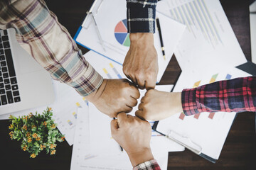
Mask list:
[[[129,33],[127,33],[127,19],[124,19],[117,23],[114,28],[114,36],[119,44],[129,47]]]

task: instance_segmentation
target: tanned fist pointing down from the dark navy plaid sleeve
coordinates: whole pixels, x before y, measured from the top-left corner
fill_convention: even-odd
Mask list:
[[[131,45],[124,59],[123,72],[139,89],[154,89],[158,59],[153,33],[130,33]]]

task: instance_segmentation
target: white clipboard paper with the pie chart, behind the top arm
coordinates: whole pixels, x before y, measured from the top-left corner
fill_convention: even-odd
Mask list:
[[[109,57],[119,64],[122,64],[124,62],[124,57],[129,50],[129,43],[124,43],[126,40],[129,42],[127,26],[124,24],[125,22],[122,23],[122,21],[127,18],[126,11],[127,8],[125,0],[105,0],[102,1],[99,11],[95,14],[95,21],[97,22],[97,28],[100,30],[105,51],[100,44],[97,29],[93,22],[90,23],[90,26],[87,29],[82,28],[80,30],[76,41],[81,45],[85,45],[105,57]],[[154,44],[159,59],[159,74],[157,75],[157,81],[159,82],[167,65],[169,64],[169,61],[171,60],[172,55],[174,54],[178,40],[181,39],[186,26],[162,15],[161,13],[156,13],[156,16],[159,18],[159,22],[161,24],[161,33],[166,53],[166,60],[164,60],[161,52],[159,33],[156,29],[156,33],[154,33]]]

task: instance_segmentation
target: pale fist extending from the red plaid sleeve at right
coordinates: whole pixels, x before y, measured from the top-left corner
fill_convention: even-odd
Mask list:
[[[145,120],[162,120],[183,112],[181,92],[170,93],[151,89],[141,99],[135,115]]]

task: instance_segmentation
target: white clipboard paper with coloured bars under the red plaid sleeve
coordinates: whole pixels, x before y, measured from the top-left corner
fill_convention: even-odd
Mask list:
[[[214,81],[247,76],[250,76],[250,74],[236,68],[225,72],[214,72],[214,74],[209,74],[208,77],[203,77],[199,73],[182,72],[174,91],[182,91],[185,88],[191,89]],[[202,147],[203,154],[218,159],[236,113],[219,112],[214,114],[200,113],[200,115],[191,116],[182,115],[183,113],[178,113],[159,121],[157,130],[164,134],[172,130],[183,137],[188,137]]]

